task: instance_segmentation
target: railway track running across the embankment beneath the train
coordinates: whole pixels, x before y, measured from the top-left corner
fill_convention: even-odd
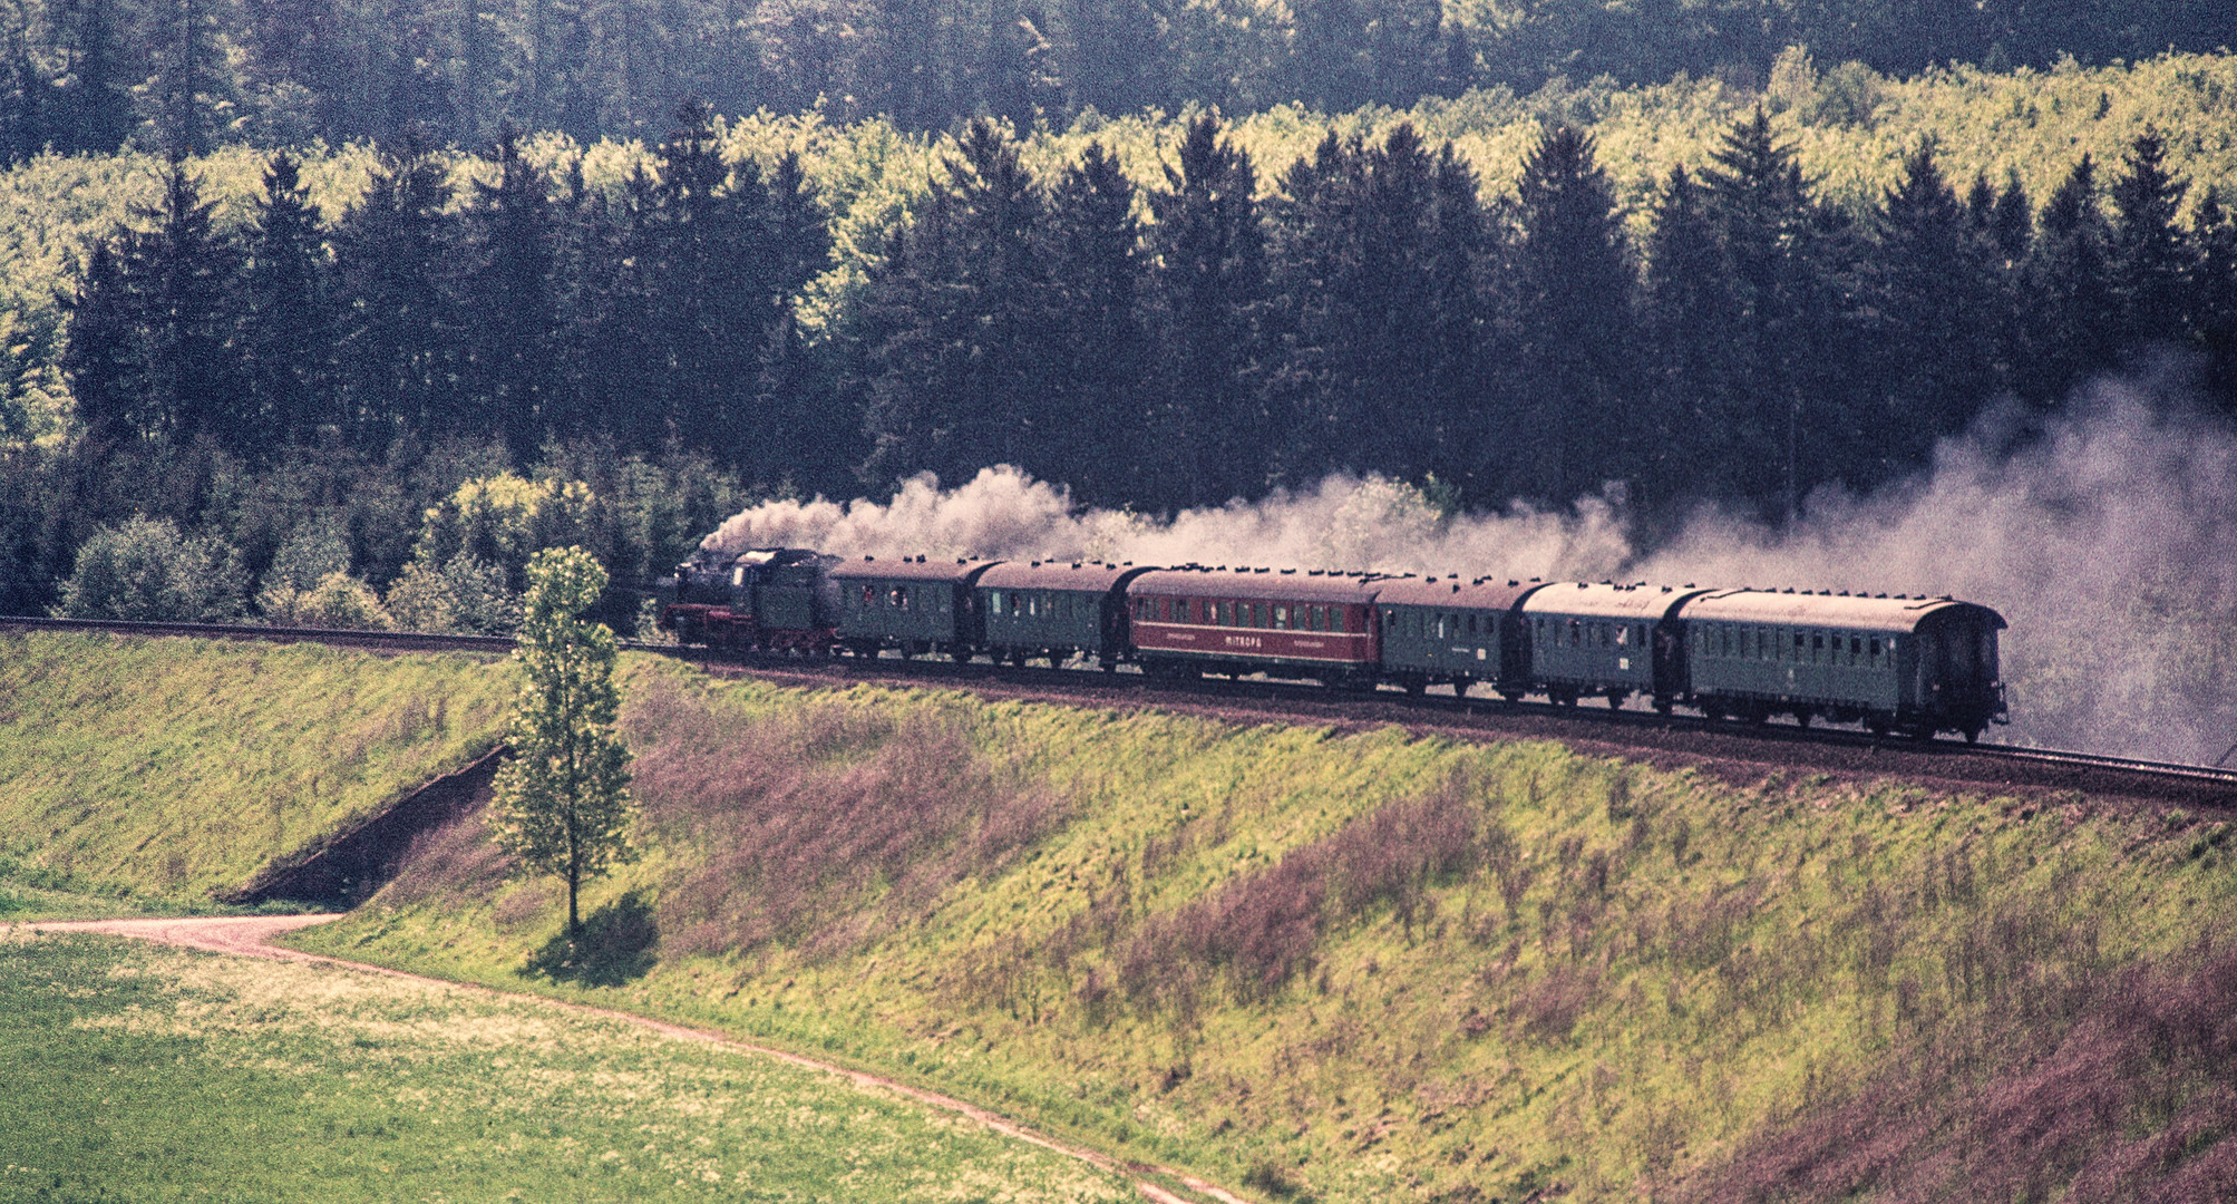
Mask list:
[[[315,627],[246,627],[217,622],[121,622],[58,620],[0,615],[0,631],[105,631],[114,636],[192,636],[210,640],[318,642],[369,651],[481,651],[508,653],[508,636],[443,636],[418,631],[333,631]],[[1331,694],[1322,685],[1284,680],[1195,683],[1152,680],[1134,671],[1094,674],[1080,669],[1040,669],[989,662],[964,662],[897,656],[881,658],[799,658],[785,653],[749,653],[714,658],[707,649],[644,645],[624,640],[624,649],[673,656],[725,674],[814,683],[886,680],[908,685],[953,685],[1018,698],[1047,698],[1101,705],[1157,705],[1235,718],[1300,718],[1344,727],[1398,723],[1456,736],[1523,736],[1644,750],[1676,759],[1702,759],[1738,765],[1801,768],[1843,774],[1893,774],[1933,781],[2016,788],[2080,790],[2087,794],[2121,794],[2237,810],[2237,768],[2139,761],[2094,752],[2018,747],[1998,743],[1969,745],[1951,739],[1872,736],[1839,727],[1801,727],[1794,723],[1738,723],[1684,714],[1658,714],[1646,707],[1593,707],[1552,703],[1508,703],[1443,694],[1405,694],[1396,689]]]

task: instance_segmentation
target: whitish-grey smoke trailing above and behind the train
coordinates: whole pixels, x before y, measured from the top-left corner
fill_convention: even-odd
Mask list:
[[[1986,416],[1881,495],[1821,492],[1787,530],[1709,510],[1660,548],[1599,497],[1443,515],[1407,483],[1329,477],[1152,519],[1009,465],[886,504],[770,501],[707,546],[1948,593],[2011,622],[2013,723],[1993,739],[2212,761],[2237,743],[2237,432],[2156,378],[2092,385],[2027,439],[2018,423]]]

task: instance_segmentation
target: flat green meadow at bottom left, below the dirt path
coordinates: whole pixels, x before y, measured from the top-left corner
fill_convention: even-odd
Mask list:
[[[1116,1202],[1083,1164],[537,1000],[0,935],[0,1200]]]

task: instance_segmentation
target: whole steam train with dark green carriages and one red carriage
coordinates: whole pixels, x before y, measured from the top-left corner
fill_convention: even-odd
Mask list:
[[[698,553],[662,580],[660,627],[718,651],[942,653],[1168,678],[1450,685],[1570,707],[1973,741],[2004,723],[2004,618],[1953,598],[1403,577],[1295,568]]]

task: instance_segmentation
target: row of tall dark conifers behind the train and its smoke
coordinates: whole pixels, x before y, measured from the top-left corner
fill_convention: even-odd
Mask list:
[[[391,148],[327,226],[282,152],[224,233],[172,161],[69,300],[78,439],[7,459],[13,609],[134,510],[221,524],[251,577],[338,512],[387,589],[412,546],[385,528],[532,463],[624,499],[615,575],[644,589],[747,486],[1018,463],[1163,512],[1349,470],[1467,506],[1613,492],[1651,533],[1870,490],[1998,398],[2040,416],[2156,351],[2237,412],[2237,222],[2156,130],[2040,201],[1946,179],[1924,141],[1859,210],[1754,112],[1631,224],[1568,125],[1485,197],[1403,123],[1264,186],[1199,116],[1139,186],[1094,143],[1038,179],[975,121],[814,331],[821,199],[790,157],[725,157],[700,105],[615,192],[510,139],[447,179]],[[662,490],[691,501],[651,515]]]

